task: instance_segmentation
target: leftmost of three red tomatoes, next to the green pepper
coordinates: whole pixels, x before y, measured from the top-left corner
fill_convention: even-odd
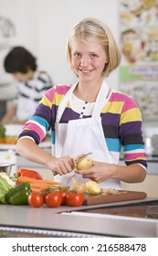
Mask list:
[[[31,192],[27,197],[28,204],[34,208],[39,208],[44,204],[44,197],[38,192]]]

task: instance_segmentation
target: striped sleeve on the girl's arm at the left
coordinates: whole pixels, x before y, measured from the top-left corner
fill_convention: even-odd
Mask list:
[[[29,118],[20,133],[19,138],[29,136],[39,144],[45,138],[47,131],[53,129],[56,121],[58,104],[68,91],[68,86],[54,86],[49,89],[37,106],[35,114]]]

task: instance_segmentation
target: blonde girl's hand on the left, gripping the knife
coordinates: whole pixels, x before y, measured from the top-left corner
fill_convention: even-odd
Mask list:
[[[74,168],[74,159],[69,155],[65,155],[62,157],[51,157],[47,161],[47,168],[57,173],[60,176],[66,175],[70,173]]]

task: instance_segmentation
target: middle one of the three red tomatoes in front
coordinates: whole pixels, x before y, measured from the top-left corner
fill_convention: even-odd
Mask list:
[[[62,203],[62,197],[59,191],[48,193],[45,197],[45,203],[49,208],[58,208]]]

